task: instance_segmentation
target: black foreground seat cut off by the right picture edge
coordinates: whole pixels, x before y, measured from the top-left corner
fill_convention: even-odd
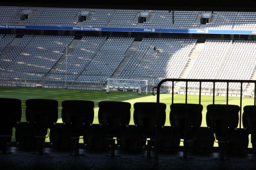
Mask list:
[[[248,105],[244,107],[242,123],[248,134],[251,134],[252,148],[256,150],[256,106]]]

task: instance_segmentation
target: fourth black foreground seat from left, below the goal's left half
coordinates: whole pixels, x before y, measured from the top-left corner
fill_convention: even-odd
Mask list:
[[[121,134],[125,131],[130,122],[131,104],[121,101],[99,102],[98,119],[106,139],[111,140],[111,157],[115,157],[115,139],[120,144]]]

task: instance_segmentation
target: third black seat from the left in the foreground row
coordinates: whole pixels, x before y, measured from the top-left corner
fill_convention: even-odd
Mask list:
[[[69,129],[70,138],[75,142],[75,155],[79,155],[79,139],[93,123],[94,102],[85,100],[65,100],[62,103],[63,128]]]

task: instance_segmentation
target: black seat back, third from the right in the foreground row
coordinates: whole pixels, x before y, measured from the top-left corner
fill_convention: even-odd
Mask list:
[[[192,135],[192,132],[199,130],[203,111],[201,104],[175,103],[170,105],[170,109],[170,124],[179,132],[181,138],[184,136],[185,131],[187,135]]]

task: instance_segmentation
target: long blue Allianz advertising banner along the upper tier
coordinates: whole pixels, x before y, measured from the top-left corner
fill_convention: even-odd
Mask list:
[[[192,34],[252,34],[256,30],[212,30],[212,29],[178,29],[178,28],[124,28],[124,27],[84,27],[84,26],[35,26],[35,25],[4,25],[3,29],[31,29],[31,30],[75,30],[75,31],[120,31],[120,32],[165,32]]]

